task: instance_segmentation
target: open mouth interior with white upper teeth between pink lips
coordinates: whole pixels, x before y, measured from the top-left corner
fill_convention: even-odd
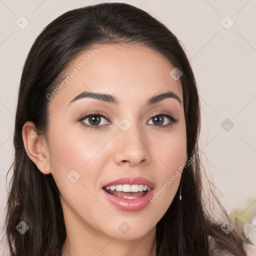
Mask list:
[[[143,184],[123,184],[104,186],[102,188],[107,193],[124,199],[136,199],[144,196],[151,190],[151,187]]]

